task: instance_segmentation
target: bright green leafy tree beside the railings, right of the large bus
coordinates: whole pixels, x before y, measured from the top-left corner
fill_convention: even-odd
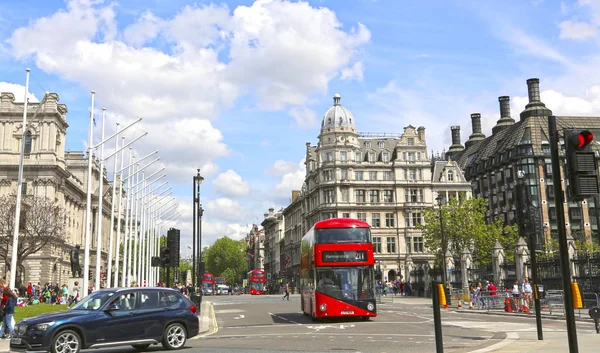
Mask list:
[[[442,206],[444,240],[448,250],[454,256],[460,256],[465,248],[471,249],[473,261],[488,264],[492,258],[492,248],[496,240],[505,249],[514,249],[518,240],[516,226],[505,226],[502,219],[487,224],[485,219],[486,205],[484,199],[450,199],[448,205]],[[424,223],[418,228],[423,232],[425,246],[438,256],[441,263],[442,233],[440,228],[440,209],[428,209],[423,212]],[[514,256],[514,251],[506,251],[507,257]]]

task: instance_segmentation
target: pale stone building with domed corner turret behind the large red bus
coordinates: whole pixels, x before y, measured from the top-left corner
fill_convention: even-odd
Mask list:
[[[316,146],[306,144],[302,189],[292,193],[292,203],[282,212],[288,280],[298,283],[304,234],[317,221],[335,217],[371,225],[376,261],[388,280],[406,279],[413,266],[431,263],[434,256],[424,248],[417,225],[423,210],[437,204],[438,193],[470,197],[458,164],[432,163],[422,126],[408,125],[401,134],[358,133],[337,94],[318,139]]]

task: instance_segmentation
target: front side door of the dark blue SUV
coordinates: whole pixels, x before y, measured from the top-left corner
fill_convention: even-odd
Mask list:
[[[97,333],[98,343],[124,342],[138,339],[142,330],[136,324],[139,292],[119,294],[103,311],[102,328]]]

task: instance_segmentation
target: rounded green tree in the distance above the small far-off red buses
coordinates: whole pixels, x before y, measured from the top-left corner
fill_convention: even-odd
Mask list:
[[[244,241],[236,241],[223,237],[205,250],[206,271],[215,276],[225,276],[228,270],[228,283],[239,283],[246,272],[246,245]]]

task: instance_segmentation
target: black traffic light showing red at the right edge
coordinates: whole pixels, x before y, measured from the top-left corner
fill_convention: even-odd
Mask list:
[[[598,185],[598,162],[590,145],[594,135],[589,130],[565,130],[567,171],[571,197],[575,201],[596,196]]]

